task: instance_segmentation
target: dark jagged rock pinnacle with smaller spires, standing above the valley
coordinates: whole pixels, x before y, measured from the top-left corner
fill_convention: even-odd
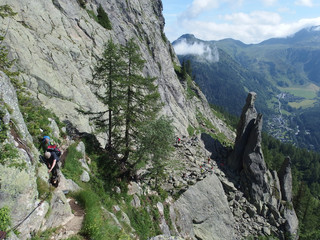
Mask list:
[[[278,174],[267,169],[261,148],[262,115],[254,108],[255,98],[255,93],[248,94],[228,164],[236,174],[240,173],[240,189],[255,205],[257,213],[285,233],[276,231],[276,235],[285,238],[287,234],[296,239],[298,219],[292,207],[290,158],[284,161]]]

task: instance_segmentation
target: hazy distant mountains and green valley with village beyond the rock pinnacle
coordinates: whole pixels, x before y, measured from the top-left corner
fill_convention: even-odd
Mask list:
[[[239,115],[254,91],[269,133],[320,151],[320,26],[259,44],[204,41],[191,34],[172,44],[181,62],[191,62],[210,103]]]

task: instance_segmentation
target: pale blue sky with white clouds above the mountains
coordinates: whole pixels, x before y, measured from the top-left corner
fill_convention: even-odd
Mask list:
[[[170,41],[191,33],[203,40],[259,43],[320,25],[320,0],[162,0]]]

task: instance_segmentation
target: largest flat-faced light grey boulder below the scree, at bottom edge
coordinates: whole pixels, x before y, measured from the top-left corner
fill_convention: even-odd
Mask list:
[[[189,187],[173,204],[171,221],[183,238],[233,239],[234,219],[223,187],[215,175]]]

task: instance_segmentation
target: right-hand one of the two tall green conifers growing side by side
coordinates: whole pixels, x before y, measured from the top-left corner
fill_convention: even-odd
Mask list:
[[[139,127],[153,119],[160,110],[160,97],[154,85],[155,78],[142,76],[145,61],[141,58],[139,46],[133,39],[122,48],[122,56],[126,61],[126,67],[121,81],[125,95],[122,104],[125,124],[124,156],[121,162],[125,164],[133,151]]]

